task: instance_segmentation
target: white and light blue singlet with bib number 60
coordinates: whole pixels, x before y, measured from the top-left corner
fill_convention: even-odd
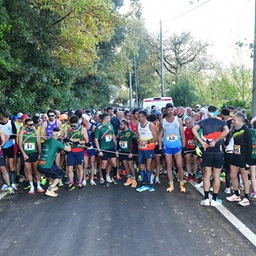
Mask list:
[[[182,147],[180,138],[180,124],[178,117],[175,116],[172,122],[168,122],[166,118],[163,119],[163,145],[167,148]]]

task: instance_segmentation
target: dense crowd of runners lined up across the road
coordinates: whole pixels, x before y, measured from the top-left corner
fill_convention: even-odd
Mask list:
[[[233,106],[193,109],[167,103],[162,109],[49,109],[31,116],[4,111],[1,190],[15,193],[22,183],[30,195],[56,197],[65,184],[72,191],[87,183],[104,188],[122,183],[153,192],[164,173],[167,192],[174,190],[174,178],[181,193],[193,182],[204,189],[200,204],[217,206],[224,180],[226,199],[247,206],[256,198],[255,128],[256,118],[249,121],[245,110]]]

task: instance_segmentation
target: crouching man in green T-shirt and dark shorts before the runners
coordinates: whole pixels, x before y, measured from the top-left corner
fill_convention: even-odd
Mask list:
[[[45,141],[42,146],[41,157],[38,161],[38,171],[44,174],[46,177],[53,179],[53,183],[48,187],[45,194],[47,196],[56,197],[55,193],[58,190],[58,183],[63,178],[64,172],[54,164],[55,155],[59,150],[65,150],[67,152],[71,151],[71,147],[68,143],[63,144],[58,141],[61,137],[61,130],[56,127],[52,131],[52,136]]]

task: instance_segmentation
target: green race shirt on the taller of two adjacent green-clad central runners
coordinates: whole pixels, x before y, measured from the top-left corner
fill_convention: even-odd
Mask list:
[[[112,124],[98,124],[95,128],[94,138],[99,140],[101,149],[111,149],[115,147],[113,141],[114,129]]]

